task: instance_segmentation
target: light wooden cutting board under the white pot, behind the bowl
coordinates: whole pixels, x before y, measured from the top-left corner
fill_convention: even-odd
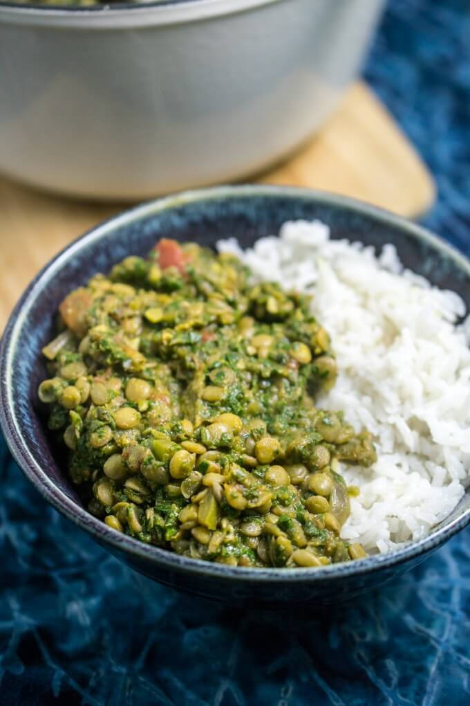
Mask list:
[[[335,191],[408,217],[425,213],[435,197],[433,179],[414,148],[360,82],[315,138],[257,181]],[[123,208],[71,201],[0,178],[0,332],[37,270]]]

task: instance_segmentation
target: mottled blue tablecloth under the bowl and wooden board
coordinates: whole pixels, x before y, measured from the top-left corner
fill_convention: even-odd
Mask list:
[[[426,225],[470,253],[469,0],[392,0],[366,78],[438,180]],[[63,520],[0,441],[0,704],[470,702],[470,531],[319,618],[233,614],[159,588]]]

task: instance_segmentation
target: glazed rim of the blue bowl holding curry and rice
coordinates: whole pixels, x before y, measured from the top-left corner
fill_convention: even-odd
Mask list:
[[[264,198],[287,198],[295,201],[297,198],[307,198],[312,203],[321,205],[345,208],[352,213],[360,213],[371,217],[378,222],[386,222],[397,229],[404,230],[412,237],[426,241],[430,246],[438,249],[447,258],[451,258],[459,268],[470,278],[470,261],[457,249],[450,246],[443,239],[416,225],[415,223],[390,213],[376,206],[357,201],[346,196],[340,196],[326,191],[313,189],[299,189],[290,186],[265,186],[265,185],[243,185],[243,186],[216,186],[209,189],[197,189],[185,191],[172,196],[166,196],[154,201],[149,201],[135,208],[126,210],[120,215],[116,215],[109,220],[102,222],[90,229],[82,236],[75,239],[61,250],[54,258],[44,265],[42,270],[30,282],[16,304],[6,325],[4,335],[0,343],[0,426],[4,431],[4,436],[8,448],[16,460],[23,473],[29,479],[42,496],[51,503],[61,514],[68,517],[75,525],[82,530],[89,532],[101,544],[106,544],[116,551],[123,551],[130,554],[132,558],[142,559],[149,563],[155,562],[173,573],[190,573],[192,575],[206,576],[211,578],[226,579],[241,582],[263,582],[274,584],[278,582],[290,583],[302,579],[307,583],[321,583],[333,580],[334,578],[346,578],[353,575],[369,574],[380,568],[392,568],[404,561],[413,558],[424,558],[428,551],[436,549],[440,544],[450,539],[454,534],[462,530],[470,523],[470,507],[462,510],[462,513],[454,517],[447,525],[438,527],[431,531],[426,537],[417,542],[410,542],[405,546],[390,552],[389,554],[379,554],[369,556],[361,561],[348,563],[338,563],[325,566],[321,571],[308,568],[291,568],[286,571],[279,568],[245,568],[231,567],[223,564],[216,564],[192,559],[174,554],[166,549],[144,544],[138,539],[133,539],[127,534],[118,533],[104,522],[91,515],[85,508],[76,505],[75,502],[66,496],[47,477],[34,455],[22,441],[20,428],[16,417],[16,405],[13,402],[11,371],[13,361],[16,357],[16,345],[20,331],[27,320],[27,313],[30,310],[37,294],[42,286],[49,282],[54,273],[61,268],[61,265],[73,257],[74,253],[80,251],[84,246],[106,238],[107,234],[113,232],[117,227],[128,225],[149,215],[156,215],[180,205],[199,202],[223,201],[228,198],[238,197],[264,197]]]

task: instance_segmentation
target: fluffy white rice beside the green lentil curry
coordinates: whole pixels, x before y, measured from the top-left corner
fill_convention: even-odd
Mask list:
[[[314,294],[330,333],[338,381],[317,402],[373,433],[373,467],[343,465],[357,485],[342,537],[369,552],[423,537],[464,495],[470,474],[470,317],[462,299],[404,270],[395,247],[330,240],[319,221],[289,222],[280,237],[237,254],[255,280]]]

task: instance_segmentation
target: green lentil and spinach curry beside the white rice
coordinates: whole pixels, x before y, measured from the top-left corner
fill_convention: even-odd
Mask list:
[[[163,239],[69,294],[44,348],[49,429],[116,532],[233,566],[362,558],[339,469],[376,460],[371,436],[315,407],[336,365],[309,299],[249,275]]]

